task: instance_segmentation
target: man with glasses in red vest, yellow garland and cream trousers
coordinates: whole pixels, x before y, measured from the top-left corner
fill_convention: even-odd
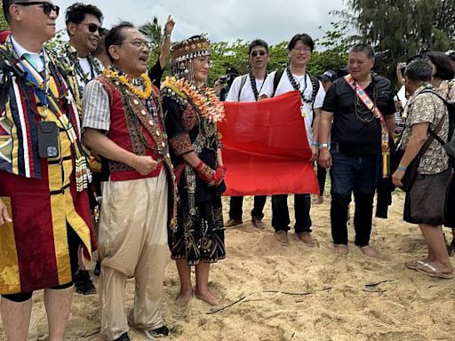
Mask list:
[[[167,226],[175,222],[175,176],[160,94],[147,75],[146,37],[124,22],[105,42],[112,66],[87,84],[83,100],[84,142],[108,159],[109,168],[98,236],[101,332],[125,341],[130,325],[155,339],[169,334],[161,301]],[[134,306],[126,317],[124,286],[132,277]]]

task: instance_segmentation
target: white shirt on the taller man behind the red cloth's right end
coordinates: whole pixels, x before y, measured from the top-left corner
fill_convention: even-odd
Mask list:
[[[262,87],[262,90],[259,92],[259,96],[266,95],[268,98],[272,97],[274,93],[274,78],[276,71],[272,72],[270,75],[267,75],[266,83]],[[306,99],[312,99],[313,96],[313,84],[311,83],[311,78],[308,74],[303,75],[293,75],[297,82],[300,81],[299,91],[303,91],[303,95]],[[318,81],[319,82],[319,81]],[[280,82],[276,86],[275,96],[282,95],[283,93],[294,91],[291,81],[284,70],[283,75],[281,76]],[[307,139],[308,143],[311,144],[313,141],[313,130],[311,125],[313,124],[313,108],[318,109],[323,107],[323,99],[325,98],[325,91],[323,91],[323,84],[319,82],[319,91],[316,93],[315,103],[307,103],[302,99],[302,105],[305,107],[307,116],[305,117],[305,127],[307,129]]]

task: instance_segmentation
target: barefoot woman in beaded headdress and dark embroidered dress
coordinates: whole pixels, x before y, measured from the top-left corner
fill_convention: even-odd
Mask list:
[[[170,240],[180,276],[177,302],[186,305],[193,297],[190,266],[196,266],[196,297],[217,305],[208,282],[210,264],[226,257],[220,198],[226,168],[216,127],[224,107],[205,85],[211,66],[206,38],[173,45],[171,57],[173,76],[164,81],[162,94],[180,194],[178,228]]]

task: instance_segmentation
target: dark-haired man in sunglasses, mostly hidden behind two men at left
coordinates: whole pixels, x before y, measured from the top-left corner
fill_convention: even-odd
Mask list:
[[[63,59],[62,61],[74,70],[74,75],[76,75],[79,92],[77,105],[79,107],[82,106],[85,84],[100,75],[102,71],[100,60],[92,57],[92,52],[100,44],[100,32],[103,29],[101,28],[102,20],[103,15],[100,9],[92,4],[72,4],[66,11],[65,23],[69,41],[62,46],[62,51],[58,54]],[[95,188],[99,188],[100,186],[97,185],[100,184],[101,163],[99,159],[93,156],[91,156],[91,169],[94,175],[93,182],[96,182]],[[93,212],[99,211],[95,196],[100,195],[100,193],[90,194]],[[74,279],[76,292],[92,295],[96,289],[82,261],[81,250],[79,250],[79,269]]]

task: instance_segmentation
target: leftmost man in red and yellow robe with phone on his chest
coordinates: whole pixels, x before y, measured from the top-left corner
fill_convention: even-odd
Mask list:
[[[44,289],[49,339],[63,341],[77,249],[92,253],[90,177],[75,79],[43,44],[59,6],[3,1],[0,45],[0,294],[6,339],[26,341],[33,291]]]

